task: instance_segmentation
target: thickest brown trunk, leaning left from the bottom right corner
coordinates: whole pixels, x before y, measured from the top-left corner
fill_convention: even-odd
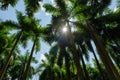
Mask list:
[[[101,38],[99,37],[99,35],[97,35],[97,33],[94,31],[94,29],[90,26],[88,21],[87,21],[86,28],[90,32],[91,37],[92,37],[93,41],[95,42],[99,56],[100,56],[103,64],[105,65],[105,68],[109,75],[109,79],[110,80],[120,80],[120,75],[119,75],[118,71],[116,70],[112,60],[110,59],[107,51],[105,50],[105,47],[101,41]]]

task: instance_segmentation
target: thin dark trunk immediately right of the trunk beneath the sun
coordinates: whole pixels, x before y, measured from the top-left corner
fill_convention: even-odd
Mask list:
[[[81,58],[81,61],[82,61],[83,70],[84,70],[84,73],[85,73],[85,80],[90,80],[90,77],[89,77],[89,74],[88,74],[88,71],[87,71],[87,68],[86,68],[86,65],[85,65],[85,61],[83,59],[83,54],[80,50],[80,47],[79,47],[79,54],[80,54],[80,58]]]

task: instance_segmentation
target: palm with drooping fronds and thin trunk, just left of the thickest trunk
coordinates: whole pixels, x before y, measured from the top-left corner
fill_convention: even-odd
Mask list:
[[[81,49],[82,50],[82,52],[81,51],[79,51],[79,53],[80,54],[85,54],[85,58],[86,58],[86,60],[87,61],[89,61],[89,52],[88,52],[88,50],[89,51],[91,51],[92,53],[93,53],[93,56],[94,56],[94,58],[95,58],[95,61],[96,61],[96,64],[97,64],[97,66],[98,66],[98,70],[99,70],[99,72],[100,72],[100,75],[101,75],[101,77],[102,77],[102,79],[103,80],[105,80],[105,77],[104,77],[104,75],[103,75],[103,71],[102,71],[102,69],[101,69],[101,66],[100,66],[100,64],[99,64],[99,61],[98,61],[98,59],[97,59],[97,56],[96,56],[96,54],[95,54],[95,52],[94,52],[94,50],[93,50],[93,47],[92,47],[92,44],[91,44],[91,38],[90,38],[90,36],[88,35],[88,33],[87,32],[84,32],[84,31],[75,31],[74,32],[74,36],[75,36],[75,43],[77,44],[77,45],[79,45],[80,46],[80,48],[79,49]],[[82,55],[83,55],[82,54]],[[82,63],[83,63],[83,65],[84,65],[84,60],[82,60],[83,59],[83,56],[81,55],[81,61],[82,61]],[[87,70],[85,69],[85,65],[84,65],[84,71],[86,71],[86,75],[88,75],[87,73]],[[89,75],[88,75],[89,76]]]

